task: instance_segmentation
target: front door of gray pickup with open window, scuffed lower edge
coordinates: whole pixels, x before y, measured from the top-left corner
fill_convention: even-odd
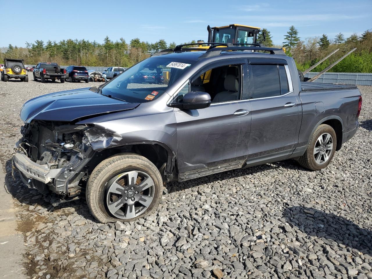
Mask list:
[[[238,61],[241,63],[241,60]],[[229,64],[234,64],[234,61],[230,60]],[[216,66],[221,66],[221,62],[205,68],[204,72]],[[247,158],[251,107],[249,100],[241,100],[241,92],[248,90],[244,82],[247,81],[247,77],[242,74],[243,68],[247,65],[238,66],[241,70],[239,71],[239,94],[236,100],[215,103],[212,101],[212,104],[204,109],[174,109],[177,121],[177,166],[180,181],[237,169]],[[193,87],[192,83],[189,84],[186,84],[178,95],[189,92]],[[199,86],[199,91],[205,87]],[[195,90],[195,87],[192,90]],[[223,90],[224,88],[221,88],[221,91]],[[211,97],[213,100],[214,96]]]

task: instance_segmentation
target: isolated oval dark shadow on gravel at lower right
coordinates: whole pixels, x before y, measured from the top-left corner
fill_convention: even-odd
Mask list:
[[[333,240],[372,256],[372,231],[343,217],[304,206],[286,208],[283,216],[308,235]]]

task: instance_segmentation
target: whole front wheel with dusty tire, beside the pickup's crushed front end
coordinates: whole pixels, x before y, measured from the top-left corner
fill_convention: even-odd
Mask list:
[[[103,160],[86,188],[90,213],[102,223],[130,222],[151,215],[163,193],[163,180],[151,161],[122,153]]]

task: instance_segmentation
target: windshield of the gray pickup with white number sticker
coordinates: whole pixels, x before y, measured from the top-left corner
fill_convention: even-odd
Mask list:
[[[147,58],[103,86],[101,94],[131,103],[150,102],[163,94],[194,63],[169,57]]]

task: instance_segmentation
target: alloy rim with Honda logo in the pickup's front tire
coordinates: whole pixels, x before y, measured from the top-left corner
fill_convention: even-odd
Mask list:
[[[146,211],[154,193],[154,181],[147,173],[126,171],[112,177],[106,184],[106,205],[115,217],[132,219]]]

